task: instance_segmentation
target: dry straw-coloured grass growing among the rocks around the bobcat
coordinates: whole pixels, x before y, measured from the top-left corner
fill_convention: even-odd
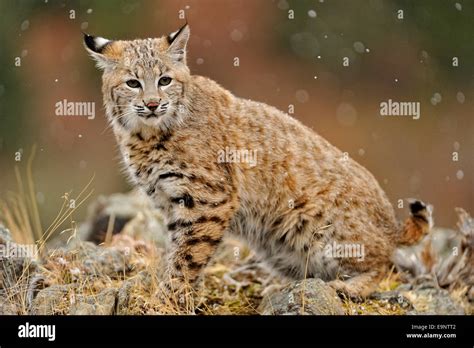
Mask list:
[[[32,179],[34,153],[35,148],[27,161],[26,185],[23,184],[20,169],[15,167],[18,192],[10,192],[5,201],[0,201],[0,221],[10,229],[15,242],[38,247],[37,274],[41,275],[43,287],[67,287],[67,292],[55,303],[52,313],[68,314],[71,305],[79,298],[95,299],[102,291],[113,288],[128,289],[125,291],[127,301],[117,308],[119,314],[255,315],[259,314],[257,307],[267,286],[281,284],[282,280],[263,268],[247,247],[228,239],[205,269],[197,292],[189,287],[189,296],[167,296],[161,286],[166,263],[164,249],[127,235],[113,236],[113,216],[109,220],[105,242],[97,250],[104,254],[111,251],[118,253],[124,258],[126,267],[112,273],[100,268],[91,272],[81,254],[83,244],[77,240],[73,213],[91,196],[93,178],[77,196],[73,197],[71,192],[64,194],[58,215],[43,230]],[[75,205],[70,204],[71,200]],[[67,251],[48,250],[47,241],[58,233],[69,233],[68,243],[77,246]],[[29,263],[36,261],[35,258],[28,260]],[[0,294],[4,292],[3,296],[19,314],[27,314],[31,302],[30,267],[29,264],[26,266],[21,274],[7,274],[8,279],[3,281],[8,286],[0,289]],[[400,275],[392,269],[380,282],[378,291],[394,290],[401,283]],[[460,290],[458,295],[462,297],[465,293]],[[371,299],[362,302],[345,299],[343,307],[349,315],[399,315],[406,312],[397,303]]]

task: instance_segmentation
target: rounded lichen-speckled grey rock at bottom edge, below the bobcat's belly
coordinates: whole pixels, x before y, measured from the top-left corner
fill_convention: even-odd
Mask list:
[[[263,315],[345,314],[336,291],[321,279],[292,282],[279,292],[265,296],[258,310]]]

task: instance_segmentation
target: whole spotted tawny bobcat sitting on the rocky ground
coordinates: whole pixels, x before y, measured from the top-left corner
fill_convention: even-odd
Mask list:
[[[106,114],[128,176],[165,216],[168,289],[195,284],[229,232],[286,277],[369,295],[394,249],[427,233],[431,206],[412,201],[402,225],[376,179],[324,138],[191,75],[189,36],[187,24],[154,39],[84,36],[103,70]],[[364,255],[331,253],[346,245]]]

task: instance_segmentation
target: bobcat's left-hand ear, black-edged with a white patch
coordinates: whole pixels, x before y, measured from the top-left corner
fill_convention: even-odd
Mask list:
[[[114,66],[121,53],[120,45],[117,41],[99,36],[91,36],[86,33],[84,33],[84,46],[97,62],[99,69],[107,69]]]

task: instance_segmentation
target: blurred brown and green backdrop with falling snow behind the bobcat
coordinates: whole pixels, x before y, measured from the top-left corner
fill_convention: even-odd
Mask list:
[[[2,0],[0,198],[18,191],[14,168],[25,173],[35,144],[45,226],[64,193],[94,174],[87,203],[130,189],[81,31],[157,37],[184,23],[180,11],[192,73],[284,111],[293,105],[294,117],[367,167],[395,206],[421,198],[447,227],[454,207],[474,213],[474,1],[465,0]],[[96,102],[95,119],[56,116],[63,99]],[[420,119],[380,116],[388,99],[420,102]],[[81,206],[73,219],[84,214]]]

